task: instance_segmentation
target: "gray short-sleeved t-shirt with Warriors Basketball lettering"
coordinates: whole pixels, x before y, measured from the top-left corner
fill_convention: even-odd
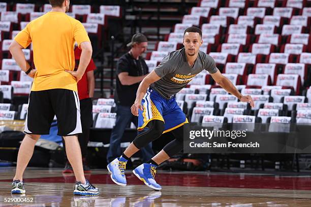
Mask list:
[[[203,70],[210,74],[217,72],[214,59],[199,51],[199,55],[191,68],[185,55],[184,48],[168,54],[161,63],[154,68],[154,72],[161,77],[150,87],[160,93],[164,98],[170,99],[172,95],[184,88],[196,75]]]

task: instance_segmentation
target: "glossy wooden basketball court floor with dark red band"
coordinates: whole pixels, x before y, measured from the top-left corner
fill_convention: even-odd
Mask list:
[[[311,206],[309,176],[159,171],[159,192],[131,171],[126,174],[128,186],[115,185],[107,170],[100,169],[86,175],[100,195],[86,197],[73,195],[75,178],[61,169],[27,168],[26,194],[21,196],[10,192],[14,170],[0,168],[0,206]]]

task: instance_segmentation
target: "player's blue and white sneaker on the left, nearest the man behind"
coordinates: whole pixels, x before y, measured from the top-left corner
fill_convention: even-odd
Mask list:
[[[108,171],[111,173],[112,181],[120,186],[127,185],[127,179],[125,177],[124,170],[126,169],[128,160],[120,157],[115,158],[112,162],[107,165]]]

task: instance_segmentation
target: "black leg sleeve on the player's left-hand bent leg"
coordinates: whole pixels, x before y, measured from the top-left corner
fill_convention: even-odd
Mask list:
[[[160,120],[152,120],[148,123],[147,127],[149,128],[147,131],[138,134],[133,144],[138,149],[145,147],[148,143],[157,140],[164,131],[164,122]]]

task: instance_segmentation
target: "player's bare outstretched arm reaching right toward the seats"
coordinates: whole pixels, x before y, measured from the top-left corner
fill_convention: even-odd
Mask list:
[[[219,70],[216,73],[210,74],[214,81],[219,84],[226,91],[236,96],[242,102],[250,103],[251,107],[255,107],[253,98],[250,95],[242,95],[238,89],[231,83],[231,81],[223,76]]]

